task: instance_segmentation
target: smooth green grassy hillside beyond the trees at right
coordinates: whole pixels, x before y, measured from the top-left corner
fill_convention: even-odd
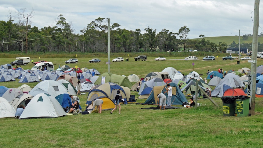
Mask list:
[[[200,40],[201,38],[193,38],[190,40]],[[227,45],[230,45],[233,41],[238,44],[239,39],[238,36],[224,36],[224,37],[206,37],[205,40],[209,40],[210,42],[214,42],[218,44],[219,42],[225,42]],[[258,37],[258,42],[263,43],[263,37]],[[248,40],[243,40],[242,36],[240,36],[240,44],[242,43],[252,43],[252,37],[248,37]]]

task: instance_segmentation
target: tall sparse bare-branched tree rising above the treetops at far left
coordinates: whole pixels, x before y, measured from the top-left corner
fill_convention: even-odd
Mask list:
[[[25,40],[26,40],[26,51],[25,53],[27,53],[27,33],[28,33],[28,29],[30,29],[30,25],[31,25],[31,18],[34,16],[34,10],[31,10],[31,12],[29,13],[26,13],[26,8],[22,8],[20,9],[20,11],[17,11],[16,14],[18,16],[18,19],[19,19],[19,24],[20,24],[20,27],[23,27],[22,30],[20,30],[20,33],[23,34],[25,36]],[[23,52],[23,44],[22,44],[22,48],[21,48],[22,52]]]

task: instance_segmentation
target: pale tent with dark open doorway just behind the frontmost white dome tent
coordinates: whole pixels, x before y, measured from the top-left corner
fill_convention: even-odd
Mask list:
[[[16,110],[16,108],[18,108],[19,105],[27,106],[27,104],[33,97],[34,96],[29,95],[27,93],[21,94],[19,96],[16,96],[16,98],[11,101],[11,105]]]

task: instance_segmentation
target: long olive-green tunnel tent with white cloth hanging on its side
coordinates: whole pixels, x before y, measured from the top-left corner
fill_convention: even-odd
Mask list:
[[[111,73],[103,73],[99,76],[99,78],[95,81],[95,85],[103,84],[103,83],[115,83],[120,86],[132,88],[132,83],[129,81],[129,79],[125,76],[117,75],[117,74],[111,74]]]

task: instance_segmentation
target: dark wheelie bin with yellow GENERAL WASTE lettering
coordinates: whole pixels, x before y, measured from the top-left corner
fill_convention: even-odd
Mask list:
[[[234,116],[235,115],[235,98],[234,96],[223,96],[221,97],[223,101],[223,114],[224,116]]]

